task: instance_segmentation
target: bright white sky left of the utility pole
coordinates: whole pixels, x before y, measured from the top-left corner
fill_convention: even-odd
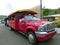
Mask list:
[[[9,15],[20,10],[40,5],[40,0],[0,0],[0,15]]]

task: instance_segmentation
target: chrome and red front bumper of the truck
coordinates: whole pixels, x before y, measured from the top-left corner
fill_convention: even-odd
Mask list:
[[[52,38],[57,32],[56,31],[53,31],[53,32],[50,32],[50,33],[47,33],[47,32],[36,32],[36,38],[38,41],[45,41],[45,40],[48,40],[50,38]]]

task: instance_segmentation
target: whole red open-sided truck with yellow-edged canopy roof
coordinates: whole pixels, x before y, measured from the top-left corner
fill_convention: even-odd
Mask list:
[[[36,14],[32,10],[19,10],[8,16],[11,30],[24,33],[32,44],[51,39],[57,33],[53,22],[41,20]]]

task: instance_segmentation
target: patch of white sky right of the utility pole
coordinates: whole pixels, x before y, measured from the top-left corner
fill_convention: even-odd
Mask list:
[[[60,0],[42,0],[43,1],[43,6],[46,8],[59,8],[60,7]]]

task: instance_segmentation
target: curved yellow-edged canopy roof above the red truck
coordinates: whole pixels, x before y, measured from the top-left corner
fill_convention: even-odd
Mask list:
[[[12,14],[10,14],[9,16],[13,16],[13,15],[20,15],[20,16],[24,16],[24,15],[28,15],[28,14],[31,14],[31,15],[35,15],[35,14],[38,14],[37,11],[35,10],[30,10],[30,9],[25,9],[25,10],[17,10],[16,12],[13,12]],[[9,17],[8,16],[8,17]]]

